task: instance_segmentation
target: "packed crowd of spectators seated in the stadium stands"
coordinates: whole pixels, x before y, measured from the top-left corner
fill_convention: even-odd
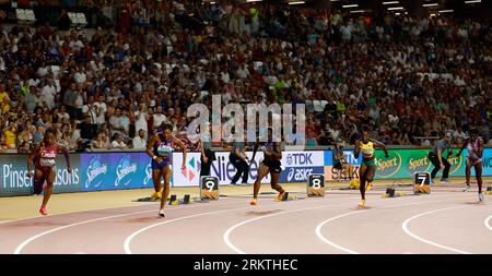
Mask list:
[[[85,2],[112,27],[0,26],[0,151],[27,152],[50,127],[73,149],[143,149],[163,122],[187,141],[187,107],[218,94],[305,104],[308,145],[353,143],[363,124],[390,145],[460,142],[472,127],[492,143],[490,19]]]

